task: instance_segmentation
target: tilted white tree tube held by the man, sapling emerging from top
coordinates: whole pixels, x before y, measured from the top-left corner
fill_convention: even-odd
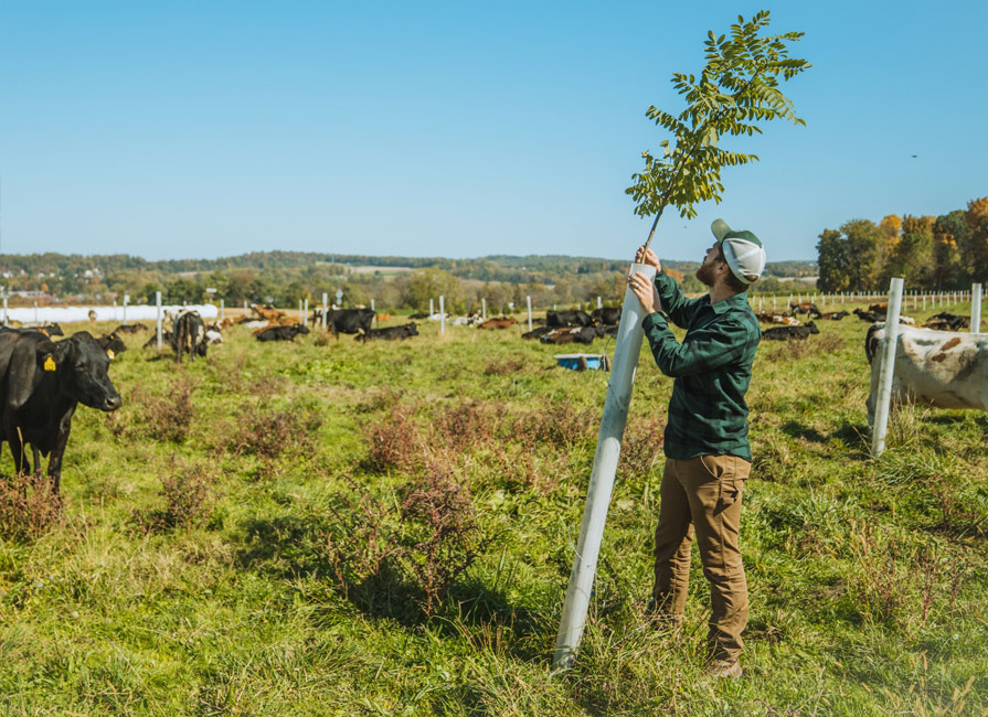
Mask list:
[[[655,267],[633,264],[628,276],[631,274],[644,274],[649,279],[654,279]],[[645,312],[638,302],[638,297],[628,287],[625,290],[625,302],[615,339],[614,362],[607,384],[607,397],[604,400],[604,415],[601,418],[594,468],[586,491],[586,505],[583,510],[583,523],[580,526],[580,539],[576,543],[570,586],[566,589],[560,631],[556,634],[555,651],[552,655],[553,670],[566,668],[573,663],[576,657],[576,649],[583,636],[583,628],[586,624],[586,612],[589,607],[594,574],[597,569],[601,541],[604,537],[604,523],[607,520],[607,507],[610,504],[610,493],[614,489],[617,459],[620,456],[620,441],[628,420],[635,370],[638,366],[638,355],[641,353],[641,341],[645,336],[645,332],[641,331],[644,318]]]

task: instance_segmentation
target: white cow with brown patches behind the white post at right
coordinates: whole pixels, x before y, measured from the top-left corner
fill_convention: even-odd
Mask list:
[[[899,327],[892,400],[926,404],[936,408],[988,410],[988,335]],[[874,424],[881,378],[885,323],[872,324],[864,338],[864,355],[871,364],[868,425]]]

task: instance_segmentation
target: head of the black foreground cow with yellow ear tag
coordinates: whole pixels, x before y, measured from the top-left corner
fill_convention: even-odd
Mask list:
[[[46,353],[43,368],[59,371],[72,398],[89,408],[105,411],[120,407],[124,402],[106,373],[110,357],[88,331],[81,331],[65,341],[44,344],[39,345],[39,352]]]

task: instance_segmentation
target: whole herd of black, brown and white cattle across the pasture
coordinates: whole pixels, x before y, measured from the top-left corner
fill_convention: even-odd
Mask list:
[[[805,340],[819,333],[815,320],[839,321],[847,311],[822,313],[811,304],[794,304],[786,314],[759,313],[766,323],[782,324],[763,331],[772,340]],[[879,382],[879,363],[873,357],[884,340],[886,308],[869,307],[853,311],[870,323],[865,339],[865,355],[872,364],[871,395],[868,399],[869,421],[874,411]],[[811,319],[801,323],[796,315]],[[311,317],[314,325],[325,325],[333,334],[355,334],[358,341],[403,340],[418,335],[417,324],[373,328],[374,311],[370,309],[331,310],[323,317],[318,310]],[[424,318],[424,317],[419,317]],[[429,317],[431,319],[434,317]],[[309,333],[305,323],[288,318],[284,312],[255,307],[254,315],[205,324],[192,311],[168,317],[170,331],[162,332],[162,345],[174,351],[176,360],[183,356],[205,356],[212,344],[223,342],[223,331],[236,323],[253,331],[259,342],[293,341]],[[518,321],[510,317],[480,320],[467,317],[453,324],[476,325],[480,330],[504,330]],[[543,343],[588,344],[597,338],[615,335],[620,322],[620,308],[584,311],[548,311],[538,320],[539,328],[522,334]],[[533,321],[535,323],[535,321]],[[903,323],[915,323],[903,317]],[[988,410],[988,339],[979,334],[959,333],[969,327],[967,317],[939,313],[923,328],[902,327],[895,363],[893,397],[899,403],[923,402],[945,408],[979,408]],[[118,409],[123,400],[108,375],[110,361],[126,351],[119,334],[148,331],[141,323],[121,324],[103,336],[79,331],[67,339],[57,324],[39,328],[0,329],[0,446],[10,445],[14,470],[41,477],[42,457],[49,457],[47,474],[57,495],[62,472],[62,457],[72,428],[72,417],[78,404],[103,411]],[[152,335],[145,347],[157,345]],[[28,446],[31,459],[28,457]]]

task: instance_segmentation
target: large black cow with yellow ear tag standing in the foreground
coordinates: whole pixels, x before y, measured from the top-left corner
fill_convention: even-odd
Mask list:
[[[76,406],[110,413],[123,404],[108,367],[109,356],[87,331],[57,343],[38,331],[0,332],[0,441],[10,445],[18,473],[31,472],[28,443],[36,475],[41,457],[50,456],[47,474],[55,496]]]

